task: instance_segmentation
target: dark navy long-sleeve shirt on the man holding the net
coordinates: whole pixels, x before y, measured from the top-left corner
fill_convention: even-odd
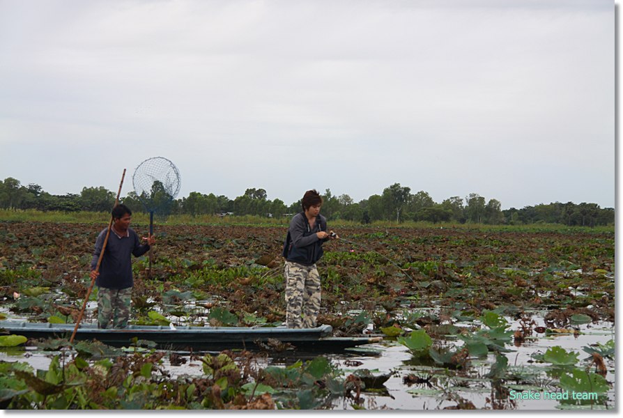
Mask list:
[[[95,251],[91,261],[91,270],[98,265],[102,247],[108,229],[104,229],[95,241]],[[149,245],[141,245],[139,235],[128,228],[128,233],[119,236],[111,229],[108,243],[100,264],[100,275],[95,284],[103,288],[125,289],[134,286],[132,278],[132,254],[139,257],[149,251]]]

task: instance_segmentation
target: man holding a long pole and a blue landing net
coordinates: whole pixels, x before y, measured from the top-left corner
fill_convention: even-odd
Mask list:
[[[132,254],[139,257],[145,254],[155,238],[149,235],[143,238],[147,243],[141,245],[139,235],[130,229],[132,211],[128,206],[117,205],[112,210],[113,223],[100,271],[96,272],[102,247],[108,229],[104,229],[95,241],[93,261],[91,261],[91,279],[98,285],[98,325],[100,328],[128,327],[130,304],[132,302]]]

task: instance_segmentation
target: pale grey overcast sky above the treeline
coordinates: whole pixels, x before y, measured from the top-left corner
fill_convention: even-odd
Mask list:
[[[612,0],[0,0],[0,180],[615,206]]]

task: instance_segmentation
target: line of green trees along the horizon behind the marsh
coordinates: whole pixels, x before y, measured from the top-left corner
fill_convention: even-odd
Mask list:
[[[162,188],[154,187],[158,193]],[[155,193],[155,192],[154,192]],[[84,187],[80,194],[63,196],[49,194],[40,185],[21,185],[15,178],[0,182],[0,208],[58,210],[75,212],[87,210],[108,212],[116,194],[105,187]],[[142,196],[145,197],[145,196]],[[144,200],[144,199],[143,199]],[[279,199],[269,200],[265,189],[247,189],[245,194],[229,199],[227,196],[191,192],[182,199],[158,199],[157,215],[256,215],[284,217],[300,212],[300,201],[289,206]],[[132,210],[146,212],[141,196],[129,192],[122,199]],[[614,208],[600,208],[596,203],[548,203],[525,206],[521,209],[501,209],[500,201],[488,201],[472,193],[465,198],[452,196],[441,203],[433,201],[427,192],[411,193],[409,187],[395,183],[368,199],[355,202],[348,194],[333,196],[330,189],[323,194],[322,213],[328,219],[346,219],[367,224],[374,221],[455,222],[459,224],[564,224],[568,226],[606,226],[615,222]]]

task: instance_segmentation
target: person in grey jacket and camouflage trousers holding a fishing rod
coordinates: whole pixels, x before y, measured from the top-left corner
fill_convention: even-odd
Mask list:
[[[327,219],[320,215],[323,199],[316,190],[305,192],[303,211],[296,214],[284,243],[286,264],[286,326],[316,327],[320,311],[321,282],[316,262],[323,256],[323,242],[337,238],[327,233]]]

